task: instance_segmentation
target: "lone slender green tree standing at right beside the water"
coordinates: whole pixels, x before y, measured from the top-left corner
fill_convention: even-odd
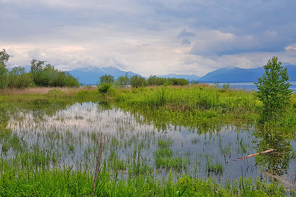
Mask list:
[[[283,115],[292,95],[287,68],[281,66],[277,57],[272,57],[264,66],[262,77],[258,77],[257,98],[262,101],[260,122],[274,122]]]

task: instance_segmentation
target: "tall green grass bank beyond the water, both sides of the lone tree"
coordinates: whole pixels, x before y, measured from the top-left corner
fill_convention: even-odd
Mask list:
[[[114,95],[114,99],[115,104],[121,108],[140,112],[148,118],[156,117],[159,120],[181,125],[186,123],[190,125],[193,119],[203,122],[257,123],[259,106],[262,104],[254,97],[252,91],[196,85],[119,90]],[[282,119],[271,123],[272,125],[295,128],[296,98],[294,95],[290,103]],[[153,121],[157,122],[156,119]]]

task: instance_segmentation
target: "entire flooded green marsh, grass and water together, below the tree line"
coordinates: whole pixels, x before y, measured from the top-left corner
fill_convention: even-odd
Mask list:
[[[295,196],[289,102],[262,125],[254,92],[227,86],[1,90],[0,196]]]

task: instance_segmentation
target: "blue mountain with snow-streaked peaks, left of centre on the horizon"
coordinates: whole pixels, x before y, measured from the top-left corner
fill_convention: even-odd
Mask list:
[[[74,76],[76,79],[78,79],[79,83],[83,83],[83,85],[94,85],[99,81],[100,77],[107,74],[114,77],[114,79],[117,79],[119,76],[123,76],[126,73],[129,76],[138,75],[140,74],[131,72],[131,71],[122,71],[114,66],[110,67],[96,67],[96,66],[86,66],[86,67],[78,67],[74,70],[68,70],[72,76]]]

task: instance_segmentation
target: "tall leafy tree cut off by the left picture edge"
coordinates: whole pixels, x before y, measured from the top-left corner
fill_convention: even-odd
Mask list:
[[[6,53],[5,49],[0,51],[0,89],[6,88],[8,85],[7,82],[7,73],[8,70],[6,68],[9,60],[9,55]]]

